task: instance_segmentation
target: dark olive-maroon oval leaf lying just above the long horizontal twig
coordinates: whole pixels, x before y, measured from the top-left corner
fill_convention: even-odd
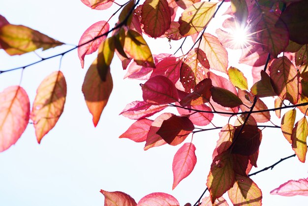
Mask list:
[[[214,102],[221,106],[236,107],[243,104],[242,100],[229,90],[220,87],[212,87],[211,93]]]

